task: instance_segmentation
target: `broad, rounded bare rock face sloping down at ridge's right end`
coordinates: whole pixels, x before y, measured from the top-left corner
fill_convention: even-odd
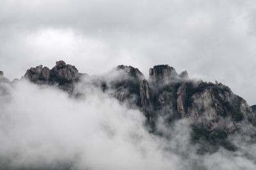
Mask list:
[[[183,83],[177,92],[177,110],[209,131],[221,127],[234,132],[241,129],[241,124],[255,122],[255,114],[246,101],[220,83],[201,83],[197,87]]]

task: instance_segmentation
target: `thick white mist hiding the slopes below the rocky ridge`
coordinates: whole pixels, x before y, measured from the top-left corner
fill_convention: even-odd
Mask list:
[[[0,97],[0,158],[8,168],[51,169],[256,169],[243,153],[196,154],[186,119],[148,132],[139,110],[100,89],[79,89],[74,99],[56,87],[22,80]],[[255,150],[255,147],[253,148]]]

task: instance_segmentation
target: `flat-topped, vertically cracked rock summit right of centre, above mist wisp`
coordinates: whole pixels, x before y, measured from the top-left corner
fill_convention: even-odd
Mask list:
[[[177,76],[175,69],[168,65],[158,65],[149,69],[149,77],[154,83],[159,82],[163,85],[169,85],[170,81],[177,78]]]

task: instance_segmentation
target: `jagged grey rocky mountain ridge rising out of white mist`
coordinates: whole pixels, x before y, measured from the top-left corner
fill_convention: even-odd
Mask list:
[[[9,81],[3,72],[0,74],[1,81]],[[220,147],[236,151],[239,146],[230,138],[234,135],[246,142],[255,141],[255,133],[250,131],[256,125],[255,105],[248,106],[222,83],[194,80],[187,71],[178,74],[168,65],[150,68],[146,80],[132,66],[120,65],[109,73],[88,76],[60,60],[52,69],[31,67],[24,78],[38,85],[56,85],[75,97],[79,97],[76,85],[81,80],[93,84],[120,103],[141,110],[147,118],[148,131],[159,136],[165,135],[156,128],[159,117],[170,127],[175,120],[187,118],[192,129],[191,143],[200,145],[198,153],[216,152]]]

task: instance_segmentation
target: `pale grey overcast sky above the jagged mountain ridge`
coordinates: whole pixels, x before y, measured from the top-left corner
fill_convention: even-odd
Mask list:
[[[256,104],[256,2],[1,0],[0,70],[12,80],[56,60],[82,73],[169,64]]]

